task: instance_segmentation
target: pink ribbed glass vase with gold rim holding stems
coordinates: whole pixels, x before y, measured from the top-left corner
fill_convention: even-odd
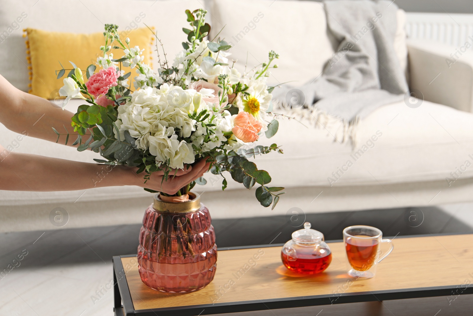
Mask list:
[[[143,217],[138,246],[141,280],[161,292],[192,292],[213,280],[217,245],[209,210],[189,193],[187,202],[159,194]]]

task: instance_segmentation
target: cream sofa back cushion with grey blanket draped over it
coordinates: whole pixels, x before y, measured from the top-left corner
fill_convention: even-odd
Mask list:
[[[221,30],[219,37],[233,46],[230,59],[236,60],[238,69],[244,70],[246,65],[249,70],[267,61],[270,50],[280,54],[276,61],[279,68],[268,78],[271,84],[292,81],[291,85],[298,86],[314,79],[338,46],[327,30],[320,2],[213,0],[211,12],[210,39]],[[397,18],[394,48],[405,70],[405,12],[399,10]]]

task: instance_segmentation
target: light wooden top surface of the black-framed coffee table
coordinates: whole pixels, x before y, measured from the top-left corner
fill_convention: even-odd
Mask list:
[[[473,283],[473,234],[398,237],[393,243],[394,251],[368,280],[348,276],[350,266],[342,242],[329,244],[333,259],[327,270],[308,276],[282,265],[280,246],[223,250],[218,252],[214,280],[204,289],[182,294],[148,288],[140,279],[136,257],[122,257],[121,261],[135,310],[319,295],[336,299],[342,293]],[[383,251],[387,248],[388,244],[382,245]]]

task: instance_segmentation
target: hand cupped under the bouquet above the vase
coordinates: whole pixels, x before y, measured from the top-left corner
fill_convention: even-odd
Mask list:
[[[175,175],[174,172],[169,172],[167,180],[163,180],[164,172],[153,172],[149,180],[140,184],[140,187],[174,195],[179,189],[200,178],[209,170],[210,163],[205,161],[204,158],[189,169],[178,169]],[[137,176],[140,177],[140,175]]]

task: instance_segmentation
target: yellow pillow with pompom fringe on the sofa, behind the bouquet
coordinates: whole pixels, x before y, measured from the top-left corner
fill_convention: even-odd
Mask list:
[[[105,45],[103,33],[93,34],[74,34],[61,32],[48,32],[33,28],[26,28],[26,60],[29,63],[30,70],[30,90],[31,94],[37,95],[45,99],[54,99],[59,96],[58,91],[63,86],[63,79],[72,69],[69,63],[75,63],[81,70],[87,70],[88,65],[96,64],[98,56],[103,55],[100,46]],[[130,38],[130,47],[136,45],[143,52],[144,63],[149,63],[151,57],[150,45],[153,43],[154,37],[148,28],[138,28],[129,32],[122,31],[120,34],[125,38]],[[116,43],[116,42],[115,42]],[[115,44],[114,43],[114,44]],[[122,49],[113,49],[114,59],[123,56]],[[66,69],[66,73],[57,79],[56,70],[61,69],[61,64]],[[97,66],[98,68],[98,66]],[[123,67],[125,73],[131,71],[131,78],[134,77],[136,71]],[[98,69],[96,70],[96,72]],[[87,80],[84,76],[84,80]],[[130,83],[130,81],[128,81]]]

